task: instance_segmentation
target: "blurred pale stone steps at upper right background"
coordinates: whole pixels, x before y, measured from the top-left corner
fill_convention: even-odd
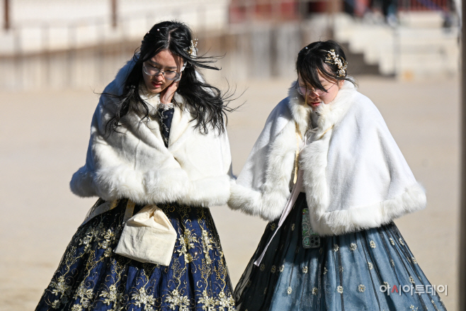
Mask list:
[[[378,67],[380,74],[402,78],[458,74],[459,30],[441,28],[437,13],[402,16],[402,25],[392,28],[339,15],[334,35],[350,52],[363,55],[365,63]],[[432,21],[430,27],[424,27],[427,21]]]

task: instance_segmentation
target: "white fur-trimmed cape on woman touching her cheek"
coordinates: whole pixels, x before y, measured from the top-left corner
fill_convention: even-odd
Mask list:
[[[123,81],[134,62],[120,69],[104,94],[121,94]],[[122,119],[120,133],[106,133],[106,123],[117,99],[102,95],[91,124],[86,165],[70,182],[77,196],[104,200],[129,198],[135,203],[178,202],[186,205],[223,205],[229,198],[231,155],[226,132],[210,129],[207,135],[195,129],[193,113],[183,98],[176,102],[165,147],[157,118],[141,121],[136,113]],[[157,115],[157,96],[147,99],[149,113]],[[150,106],[149,106],[150,107]]]

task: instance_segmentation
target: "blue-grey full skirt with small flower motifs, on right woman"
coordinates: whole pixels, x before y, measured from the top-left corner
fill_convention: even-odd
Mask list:
[[[267,225],[235,288],[237,310],[445,310],[394,223],[320,237],[320,247],[305,249],[303,208],[300,193],[255,266],[278,220]]]

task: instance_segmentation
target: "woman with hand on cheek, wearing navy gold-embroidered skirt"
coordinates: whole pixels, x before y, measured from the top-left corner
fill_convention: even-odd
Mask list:
[[[183,23],[157,23],[101,95],[73,193],[98,197],[36,310],[233,310],[208,207],[229,198],[227,108]]]

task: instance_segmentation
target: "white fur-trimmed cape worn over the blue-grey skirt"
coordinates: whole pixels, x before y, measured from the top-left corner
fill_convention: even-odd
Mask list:
[[[334,101],[314,112],[317,128],[307,131],[312,111],[293,86],[269,115],[232,186],[230,208],[269,221],[280,217],[290,196],[295,124],[307,137],[299,165],[315,232],[325,236],[379,227],[425,207],[424,188],[369,98],[345,81]]]

